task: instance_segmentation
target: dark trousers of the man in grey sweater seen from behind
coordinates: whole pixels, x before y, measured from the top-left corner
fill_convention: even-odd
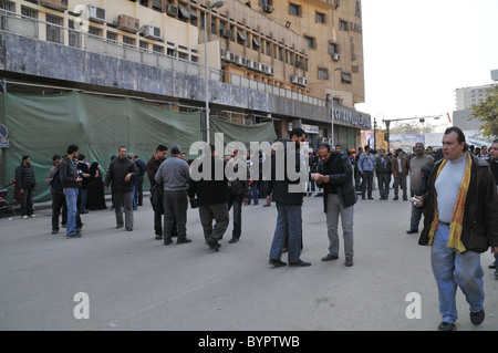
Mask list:
[[[176,222],[178,239],[187,237],[187,208],[188,198],[186,190],[164,191],[164,227],[163,237],[165,240],[172,239],[173,226]]]

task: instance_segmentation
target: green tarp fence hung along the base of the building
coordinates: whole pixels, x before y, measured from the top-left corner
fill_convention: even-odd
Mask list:
[[[52,167],[52,156],[64,155],[69,145],[77,145],[85,160],[97,162],[104,173],[118,146],[126,146],[128,153],[145,163],[158,144],[178,144],[190,158],[196,158],[197,155],[189,155],[189,148],[201,141],[204,120],[200,111],[175,112],[134,98],[81,92],[44,96],[4,93],[0,100],[0,124],[9,131],[9,147],[1,152],[0,176],[3,184],[13,179],[22,156],[29,155],[38,184],[34,201],[48,201],[51,195],[44,179]],[[245,126],[211,116],[210,129],[211,136],[224,133],[225,145],[240,141],[249,147],[251,141],[277,138],[271,122]],[[144,190],[148,187],[148,179],[144,178]],[[13,190],[9,196],[13,196]]]

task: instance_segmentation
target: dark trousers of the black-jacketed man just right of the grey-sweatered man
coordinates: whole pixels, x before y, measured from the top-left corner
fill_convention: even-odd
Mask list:
[[[228,215],[228,205],[226,203],[199,206],[199,218],[203,225],[204,238],[206,240],[214,239],[216,241],[221,240],[225,231],[230,224],[230,217]],[[212,226],[212,220],[215,225]]]

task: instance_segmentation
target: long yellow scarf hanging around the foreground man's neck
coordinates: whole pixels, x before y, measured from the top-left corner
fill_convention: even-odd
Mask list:
[[[448,248],[454,248],[458,253],[464,252],[466,249],[464,243],[461,242],[461,230],[464,228],[464,210],[465,210],[465,200],[467,199],[468,186],[470,184],[470,167],[473,165],[473,158],[470,154],[467,152],[467,163],[465,165],[464,177],[461,178],[460,189],[458,190],[458,197],[455,204],[455,209],[453,210],[452,222],[449,225],[449,239],[448,239]],[[443,160],[437,169],[436,179],[439,176],[440,172],[445,167],[448,159]],[[429,230],[429,242],[432,246],[434,241],[434,235],[436,233],[436,229],[439,226],[439,212],[437,211],[437,194],[434,195],[434,220],[430,224]]]

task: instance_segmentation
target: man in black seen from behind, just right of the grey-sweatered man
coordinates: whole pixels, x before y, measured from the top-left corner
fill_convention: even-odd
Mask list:
[[[200,224],[206,245],[211,250],[219,251],[219,241],[230,224],[227,204],[228,186],[225,175],[218,179],[216,177],[216,170],[224,170],[225,166],[224,160],[216,157],[215,145],[209,145],[209,152],[205,153],[200,164],[195,165],[196,168],[193,169],[188,196],[190,200],[194,200],[197,195]],[[209,168],[210,173],[207,172]],[[212,220],[215,220],[215,225],[212,225]],[[234,241],[230,240],[230,242]]]

